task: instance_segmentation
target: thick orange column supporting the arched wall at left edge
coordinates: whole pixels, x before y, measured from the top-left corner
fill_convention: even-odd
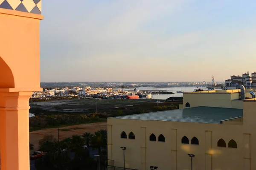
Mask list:
[[[1,170],[29,170],[29,98],[32,92],[0,92]]]

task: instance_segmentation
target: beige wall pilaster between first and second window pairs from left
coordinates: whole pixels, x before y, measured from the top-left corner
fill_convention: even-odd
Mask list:
[[[140,127],[141,170],[146,170],[146,127]]]

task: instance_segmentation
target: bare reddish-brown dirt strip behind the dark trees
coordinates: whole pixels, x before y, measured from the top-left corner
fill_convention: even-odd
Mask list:
[[[82,135],[85,132],[94,133],[100,129],[107,129],[107,122],[66,126],[60,127],[59,129],[60,140],[62,140],[73,135]],[[58,128],[50,128],[30,132],[30,143],[34,144],[35,150],[38,149],[38,142],[44,137],[44,135],[53,135],[56,139],[58,139]]]

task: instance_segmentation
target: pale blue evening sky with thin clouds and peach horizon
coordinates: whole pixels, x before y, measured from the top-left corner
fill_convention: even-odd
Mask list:
[[[256,71],[254,0],[43,0],[41,82],[224,81]]]

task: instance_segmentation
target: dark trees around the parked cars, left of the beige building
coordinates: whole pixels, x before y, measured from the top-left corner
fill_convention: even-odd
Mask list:
[[[52,135],[44,136],[39,145],[40,150],[46,154],[36,160],[35,166],[38,170],[96,170],[98,160],[90,157],[87,147],[98,150],[100,165],[103,167],[107,160],[107,136],[106,130],[74,135],[60,142],[56,142]]]

